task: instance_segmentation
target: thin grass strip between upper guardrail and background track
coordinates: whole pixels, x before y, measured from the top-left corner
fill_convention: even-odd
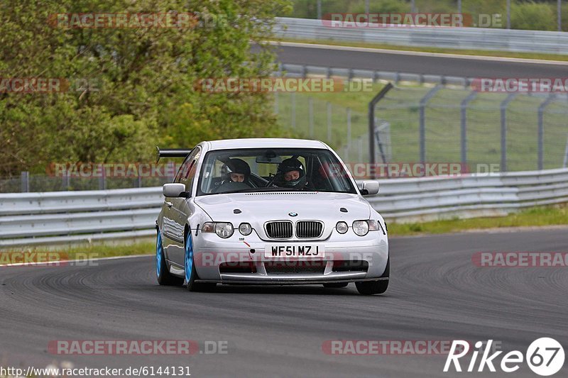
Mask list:
[[[387,45],[386,43],[363,43],[348,42],[340,40],[305,40],[293,38],[273,38],[275,41],[281,42],[297,42],[297,43],[314,43],[320,45],[332,46],[349,46],[355,48],[379,48],[385,50],[397,51],[416,51],[416,52],[437,52],[441,54],[457,54],[457,55],[474,55],[486,57],[513,57],[520,59],[537,59],[537,60],[558,60],[560,62],[568,62],[568,55],[561,54],[537,54],[534,52],[509,52],[501,50],[461,50],[452,48],[418,48],[413,46]]]

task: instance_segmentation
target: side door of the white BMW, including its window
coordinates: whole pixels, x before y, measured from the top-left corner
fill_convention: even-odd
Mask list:
[[[182,169],[180,169],[180,174],[176,177],[175,182],[185,184],[185,191],[190,194],[190,197],[195,195],[194,193],[192,193],[192,184],[197,170],[197,162],[199,162],[200,157],[201,148],[197,147],[187,157],[182,165]],[[191,213],[188,211],[187,206],[190,198],[177,197],[171,198],[169,200],[172,204],[172,206],[170,207],[170,215],[175,225],[174,228],[176,232],[175,238],[173,238],[173,245],[170,246],[170,250],[168,251],[168,257],[170,259],[170,262],[173,262],[179,267],[183,267],[185,257],[185,240],[183,239],[185,223],[187,222],[187,218],[191,215]]]

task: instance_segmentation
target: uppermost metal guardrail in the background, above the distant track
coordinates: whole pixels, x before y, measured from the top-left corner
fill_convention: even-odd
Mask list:
[[[568,54],[568,33],[495,28],[332,28],[322,20],[278,17],[275,35],[387,45]]]

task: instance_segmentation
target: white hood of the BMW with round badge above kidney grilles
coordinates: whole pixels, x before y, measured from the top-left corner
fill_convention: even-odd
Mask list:
[[[198,196],[200,206],[216,222],[231,222],[236,228],[241,222],[251,223],[259,235],[267,221],[317,220],[325,223],[324,235],[329,235],[338,221],[349,225],[371,216],[371,206],[356,194],[318,191],[272,191]],[[347,212],[340,211],[341,208]],[[241,213],[235,213],[239,209]],[[297,216],[290,216],[297,213]]]

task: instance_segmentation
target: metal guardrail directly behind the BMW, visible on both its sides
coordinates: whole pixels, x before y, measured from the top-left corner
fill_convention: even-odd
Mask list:
[[[568,169],[383,179],[368,197],[387,221],[503,216],[568,202]],[[0,194],[0,248],[154,235],[161,187]]]

